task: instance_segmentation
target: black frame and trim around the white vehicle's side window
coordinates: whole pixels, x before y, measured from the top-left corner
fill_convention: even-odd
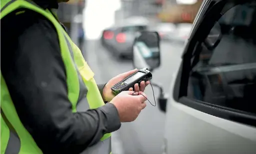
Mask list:
[[[227,0],[221,0],[219,2],[215,2],[213,0],[204,0],[204,2],[202,3],[200,11],[198,12],[199,15],[197,14],[196,20],[194,21],[192,30],[190,32],[189,39],[187,40],[184,48],[182,62],[178,69],[177,77],[173,87],[173,99],[175,100],[175,102],[179,102],[185,106],[201,111],[203,113],[225,120],[256,127],[256,116],[254,114],[213,105],[207,102],[192,100],[186,97],[189,72],[191,69],[191,58],[194,52],[194,48],[195,46],[197,46],[198,40],[200,41],[200,38],[203,38],[201,34],[202,30],[200,29],[205,28],[205,23],[210,22],[210,17],[208,15],[211,13],[210,11],[212,10],[212,8],[221,6],[226,1]],[[244,0],[243,2],[246,1],[248,0]],[[207,9],[202,9],[203,7],[207,7]],[[218,18],[217,16],[215,17]],[[207,29],[205,28],[204,34],[206,35],[206,30],[210,29],[210,27],[208,27]]]

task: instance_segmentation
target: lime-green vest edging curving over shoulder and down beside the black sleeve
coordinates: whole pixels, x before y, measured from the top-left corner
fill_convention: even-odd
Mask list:
[[[0,13],[1,19],[8,13],[18,8],[27,8],[29,10],[35,11],[45,16],[46,19],[48,19],[56,28],[58,39],[59,39],[61,57],[66,66],[66,74],[68,74],[68,78],[67,78],[68,99],[72,104],[75,104],[78,100],[79,84],[78,84],[77,72],[75,70],[75,66],[70,53],[71,51],[69,50],[66,43],[66,38],[69,38],[69,36],[65,33],[63,27],[56,19],[56,16],[54,16],[50,10],[41,8],[31,0],[9,0],[5,4],[5,6],[3,6],[3,8],[1,9],[1,13]]]

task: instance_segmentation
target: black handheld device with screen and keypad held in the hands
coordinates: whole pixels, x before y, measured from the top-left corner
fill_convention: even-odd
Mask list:
[[[152,73],[147,68],[143,68],[115,84],[113,87],[111,87],[111,90],[113,91],[114,95],[117,95],[122,91],[129,90],[131,87],[134,88],[136,83],[140,84],[141,81],[146,82],[151,79]]]

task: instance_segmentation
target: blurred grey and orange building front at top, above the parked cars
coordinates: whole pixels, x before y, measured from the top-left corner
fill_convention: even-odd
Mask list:
[[[116,21],[143,16],[159,22],[193,23],[203,0],[121,0]],[[177,4],[178,2],[178,4]]]

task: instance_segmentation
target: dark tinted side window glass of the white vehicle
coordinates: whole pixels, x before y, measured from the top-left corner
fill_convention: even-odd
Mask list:
[[[219,13],[191,59],[187,97],[256,113],[256,6],[232,5]]]

